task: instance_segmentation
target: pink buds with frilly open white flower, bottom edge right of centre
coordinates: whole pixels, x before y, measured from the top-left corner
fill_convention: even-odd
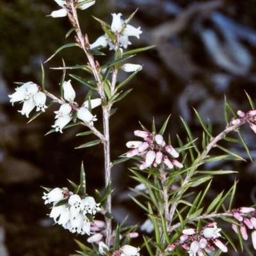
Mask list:
[[[182,246],[188,250],[189,256],[196,256],[196,253],[198,256],[204,256],[205,253],[215,250],[213,243],[222,252],[227,252],[227,246],[218,239],[221,237],[220,231],[221,228],[218,228],[215,222],[208,223],[199,233],[195,228],[186,228],[182,230],[182,236],[175,243],[170,244],[168,250],[173,251],[175,247]]]

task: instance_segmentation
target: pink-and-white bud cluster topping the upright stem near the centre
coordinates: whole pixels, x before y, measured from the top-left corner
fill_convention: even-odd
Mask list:
[[[164,163],[167,168],[172,169],[173,165],[182,168],[183,165],[174,158],[179,157],[179,153],[172,147],[166,145],[161,134],[150,133],[147,131],[134,131],[134,135],[144,139],[143,141],[128,141],[126,146],[133,148],[126,156],[141,156],[143,163],[140,165],[140,170],[149,168],[150,166],[157,167]]]

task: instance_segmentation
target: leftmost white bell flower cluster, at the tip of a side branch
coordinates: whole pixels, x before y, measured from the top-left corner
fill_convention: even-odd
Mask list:
[[[46,95],[39,91],[37,84],[33,82],[28,82],[22,84],[22,86],[15,89],[16,92],[12,95],[8,95],[11,99],[12,104],[14,102],[23,101],[22,110],[19,111],[21,115],[26,115],[29,117],[29,113],[36,107],[36,111],[44,111],[47,106],[45,106]]]

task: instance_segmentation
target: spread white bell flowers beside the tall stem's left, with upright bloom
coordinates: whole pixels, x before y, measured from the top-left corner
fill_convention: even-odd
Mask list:
[[[56,132],[60,131],[62,133],[63,127],[67,125],[72,120],[73,111],[77,111],[77,118],[81,119],[84,123],[93,125],[93,121],[97,121],[96,116],[93,116],[89,109],[89,101],[86,100],[81,108],[77,107],[74,99],[76,97],[76,92],[74,91],[70,80],[64,81],[63,83],[64,99],[68,100],[69,103],[62,104],[58,111],[54,111],[56,114],[56,121],[53,128],[56,129]],[[101,104],[101,99],[92,99],[91,108],[96,108]]]

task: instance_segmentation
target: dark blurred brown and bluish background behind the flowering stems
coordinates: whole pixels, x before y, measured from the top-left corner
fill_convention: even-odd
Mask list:
[[[52,226],[47,216],[50,210],[44,205],[40,186],[55,188],[68,186],[67,179],[79,181],[81,161],[84,161],[88,193],[104,188],[102,147],[74,149],[95,140],[95,137],[75,137],[78,132],[88,131],[80,126],[65,129],[63,134],[44,136],[54,124],[54,105],[30,124],[17,110],[22,106],[9,102],[8,94],[14,92],[13,82],[41,83],[40,63],[53,54],[58,47],[74,42],[74,34],[65,39],[70,29],[67,18],[45,17],[60,6],[53,0],[0,0],[0,255],[46,256],[68,255],[78,250],[74,238],[86,242],[86,236],[74,236],[58,225]],[[196,137],[202,138],[202,128],[192,106],[212,122],[213,134],[226,126],[224,97],[236,111],[250,110],[244,90],[255,102],[256,92],[256,1],[186,1],[186,0],[97,0],[88,10],[80,11],[83,33],[94,42],[102,30],[92,15],[111,23],[111,13],[123,13],[123,19],[139,8],[132,26],[141,27],[140,40],[131,38],[129,49],[156,45],[141,52],[129,62],[143,64],[143,70],[125,86],[133,88],[122,101],[115,104],[117,112],[111,118],[111,160],[127,152],[125,143],[134,140],[133,131],[140,129],[139,121],[150,129],[152,118],[160,129],[170,113],[168,133],[172,145],[178,147],[175,134],[186,141],[186,133],[179,116],[182,116]],[[100,64],[107,57],[100,57]],[[84,65],[86,58],[78,48],[68,48],[58,53],[44,65],[46,89],[58,93],[62,60],[67,66]],[[128,75],[120,71],[119,81]],[[88,77],[83,71],[70,70],[67,74]],[[68,75],[67,75],[67,79]],[[88,92],[77,81],[76,101],[83,103]],[[97,97],[97,95],[95,95]],[[33,112],[34,113],[34,112]],[[30,116],[33,116],[33,113]],[[93,114],[100,120],[100,108]],[[244,139],[255,159],[256,137],[248,127],[242,128]],[[102,124],[95,122],[102,130]],[[167,140],[167,134],[166,134]],[[200,140],[198,140],[200,143]],[[234,207],[256,204],[255,164],[251,163],[242,146],[228,145],[230,150],[241,154],[248,162],[216,163],[204,168],[212,170],[237,170],[239,174],[215,179],[209,200],[239,179]],[[131,174],[125,163],[113,168],[113,214],[122,221],[127,214],[127,224],[146,220],[139,209],[129,200],[127,186],[136,183],[127,177]],[[204,189],[202,186],[201,189]],[[250,240],[250,239],[249,239]],[[250,244],[251,242],[248,241]],[[2,251],[1,251],[2,250]],[[228,255],[232,255],[229,252]],[[239,255],[247,255],[240,252]]]

